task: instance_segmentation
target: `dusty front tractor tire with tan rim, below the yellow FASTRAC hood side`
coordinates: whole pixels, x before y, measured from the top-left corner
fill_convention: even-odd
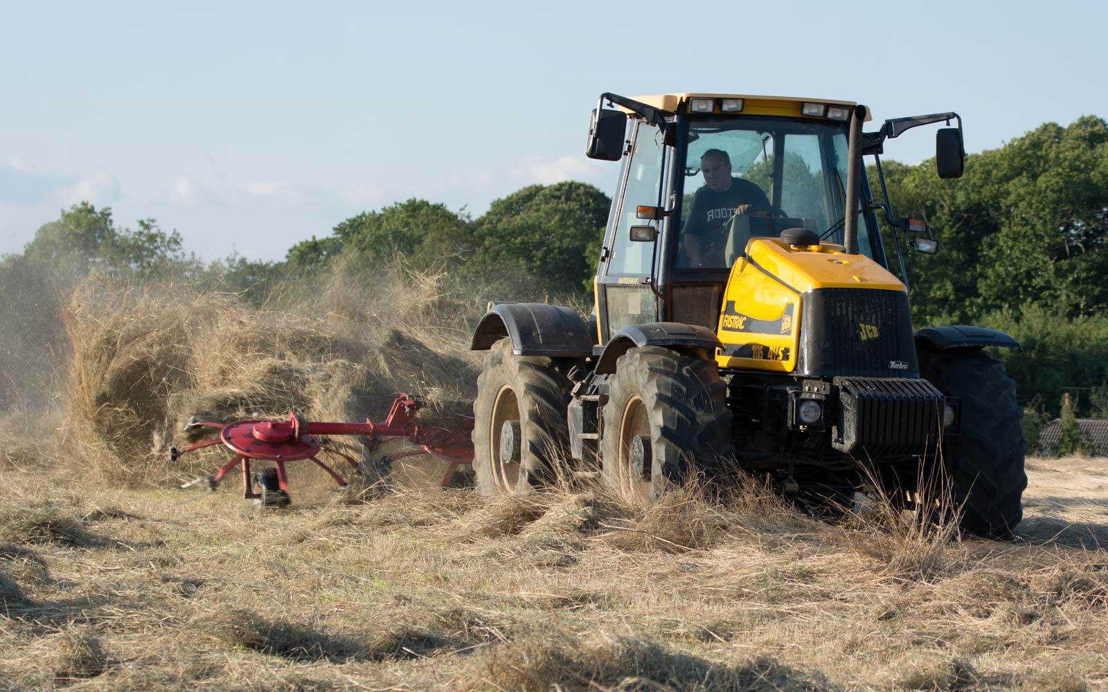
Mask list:
[[[731,453],[731,411],[716,361],[661,347],[619,357],[601,441],[608,487],[652,502],[694,467],[710,474]]]

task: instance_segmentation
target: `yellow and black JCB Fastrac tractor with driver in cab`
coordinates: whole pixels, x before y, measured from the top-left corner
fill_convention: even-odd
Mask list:
[[[490,306],[472,343],[489,351],[474,403],[479,489],[527,490],[570,458],[647,498],[737,464],[822,510],[863,488],[911,506],[936,497],[921,479],[941,479],[945,499],[929,505],[956,506],[972,534],[1009,535],[1027,484],[1023,414],[984,348],[1019,344],[976,327],[913,333],[878,228],[880,213],[901,276],[901,238],[936,251],[923,221],[893,215],[880,154],[946,123],[935,162],[958,177],[962,121],[863,132],[869,120],[841,101],[603,94],[586,153],[623,171],[595,310]]]

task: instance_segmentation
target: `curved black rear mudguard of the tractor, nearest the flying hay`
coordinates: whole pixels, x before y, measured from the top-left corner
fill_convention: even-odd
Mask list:
[[[593,354],[594,334],[570,308],[542,302],[499,302],[481,318],[471,351],[488,351],[504,337],[516,355],[586,358]]]

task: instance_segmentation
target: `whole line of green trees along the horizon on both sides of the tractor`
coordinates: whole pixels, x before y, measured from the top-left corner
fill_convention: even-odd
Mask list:
[[[883,168],[894,213],[925,219],[940,241],[934,256],[905,252],[915,326],[1003,329],[1024,345],[1023,353],[998,355],[1033,410],[1057,415],[1070,393],[1079,415],[1108,415],[1108,124],[1095,116],[1043,124],[971,154],[958,179],[938,178],[934,161],[888,161]],[[869,174],[883,202],[873,166]],[[294,245],[281,261],[202,262],[154,219],[123,228],[110,209],[82,203],[42,226],[22,254],[0,260],[0,287],[42,300],[65,283],[60,276],[96,268],[185,276],[257,297],[278,279],[336,262],[371,270],[403,256],[416,270],[492,281],[504,298],[579,299],[591,287],[609,205],[603,192],[577,182],[524,187],[478,218],[409,199],[343,219]],[[892,258],[891,230],[882,233]],[[24,303],[4,302],[0,319],[18,324],[12,312]]]

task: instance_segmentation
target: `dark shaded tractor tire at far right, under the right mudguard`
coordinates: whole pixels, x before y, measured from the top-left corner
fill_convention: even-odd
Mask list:
[[[982,351],[920,354],[920,374],[962,400],[962,430],[943,442],[943,468],[962,529],[1008,538],[1023,519],[1023,409],[1004,364]]]

